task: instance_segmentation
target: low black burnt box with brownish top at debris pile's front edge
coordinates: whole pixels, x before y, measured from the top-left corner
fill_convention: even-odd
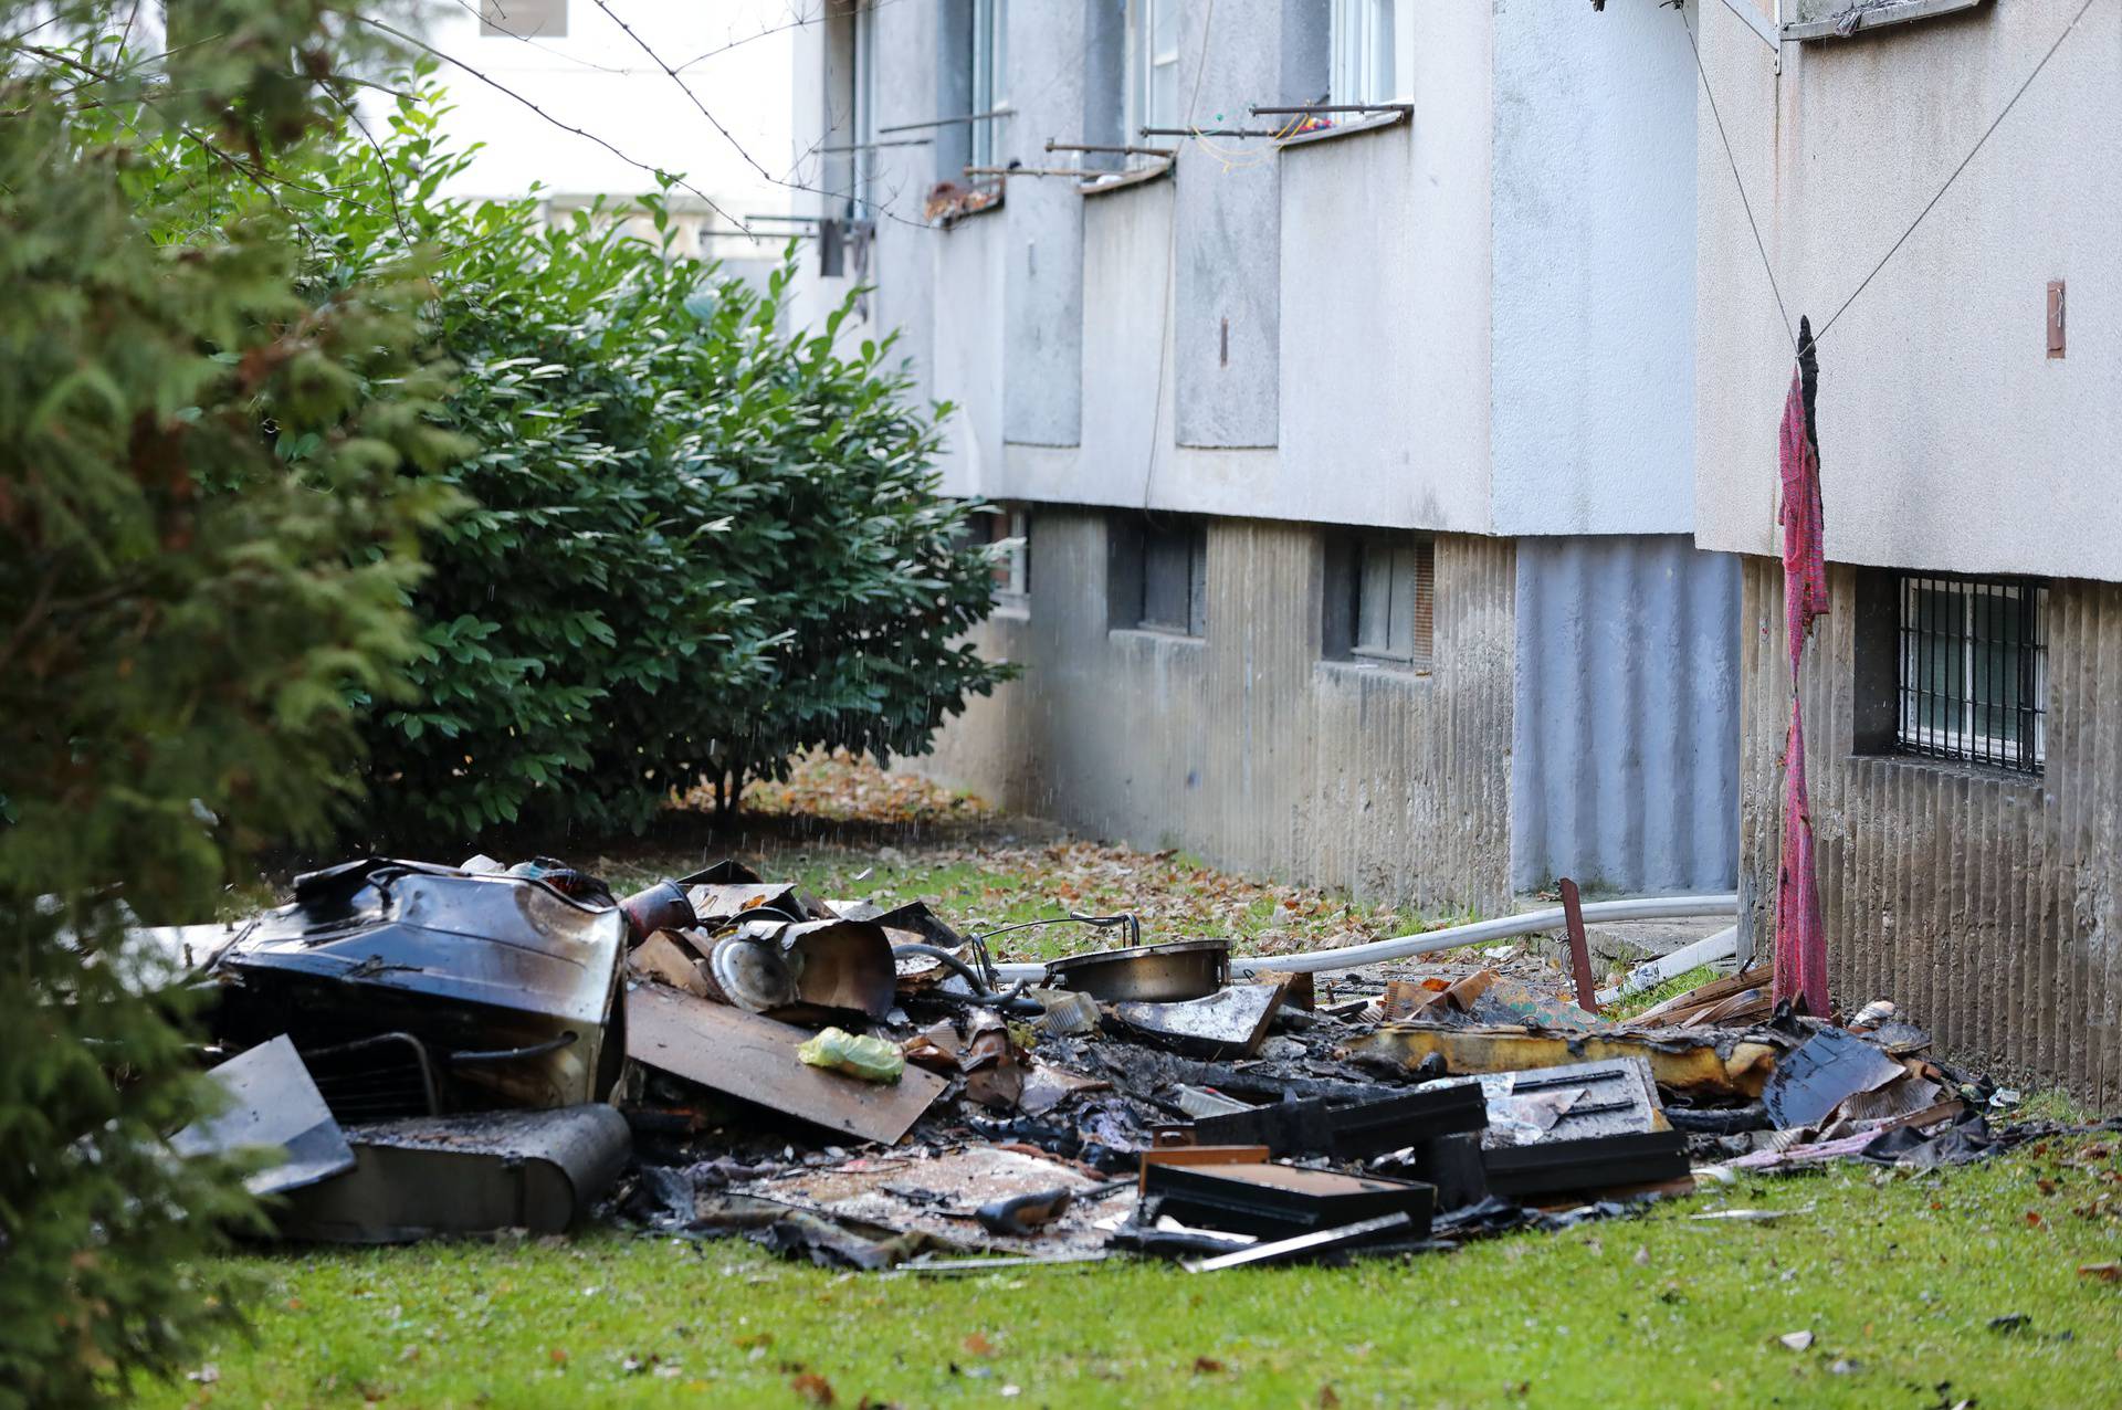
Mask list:
[[[1437,1189],[1422,1181],[1301,1166],[1150,1164],[1142,1183],[1161,1215],[1260,1238],[1311,1234],[1392,1213],[1407,1215],[1411,1236],[1424,1238],[1437,1209]]]

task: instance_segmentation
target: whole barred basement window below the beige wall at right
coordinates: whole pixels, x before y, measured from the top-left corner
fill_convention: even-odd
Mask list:
[[[2039,774],[2048,755],[2048,587],[1899,575],[1895,748]]]

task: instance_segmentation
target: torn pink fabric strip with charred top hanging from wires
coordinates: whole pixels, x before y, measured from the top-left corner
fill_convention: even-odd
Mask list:
[[[1806,727],[1797,662],[1812,621],[1827,615],[1827,543],[1821,515],[1821,447],[1812,428],[1819,358],[1812,324],[1797,320],[1797,369],[1782,403],[1782,602],[1791,647],[1791,729],[1782,738],[1782,852],[1776,867],[1776,999],[1804,999],[1827,1018],[1827,933],[1812,867],[1812,801],[1806,795]]]

